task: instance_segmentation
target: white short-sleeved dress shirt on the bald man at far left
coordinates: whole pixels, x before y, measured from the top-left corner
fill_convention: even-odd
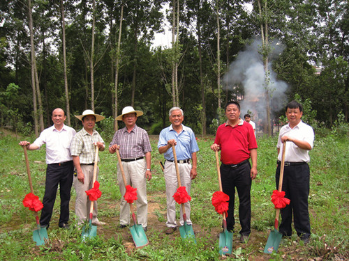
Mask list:
[[[34,143],[39,148],[44,143],[46,144],[46,164],[73,160],[73,157],[70,155],[70,143],[75,133],[75,129],[66,125],[63,125],[60,131],[53,125],[41,132]]]

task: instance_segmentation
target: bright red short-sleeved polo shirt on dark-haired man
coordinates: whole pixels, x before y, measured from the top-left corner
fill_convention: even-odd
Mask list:
[[[221,148],[223,164],[238,164],[250,158],[250,150],[258,148],[253,127],[240,119],[234,127],[223,123],[217,129],[214,143]]]

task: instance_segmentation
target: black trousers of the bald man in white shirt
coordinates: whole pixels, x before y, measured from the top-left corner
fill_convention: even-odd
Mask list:
[[[73,184],[73,161],[64,164],[48,164],[46,169],[45,195],[43,197],[43,209],[41,210],[40,226],[50,224],[57,188],[61,196],[61,214],[58,225],[64,226],[69,221],[70,189]]]

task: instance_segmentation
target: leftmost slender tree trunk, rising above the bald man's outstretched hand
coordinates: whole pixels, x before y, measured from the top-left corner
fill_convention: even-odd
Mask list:
[[[38,108],[36,105],[35,49],[34,49],[33,17],[31,17],[31,0],[28,0],[28,19],[29,19],[30,45],[31,45],[31,88],[33,89],[34,132],[35,132],[35,136],[38,136],[39,125],[38,125]]]

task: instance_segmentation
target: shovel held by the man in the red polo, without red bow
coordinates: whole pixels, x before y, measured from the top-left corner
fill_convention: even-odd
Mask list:
[[[219,168],[218,152],[216,151],[216,166],[218,173],[219,191],[222,189],[221,170]],[[219,233],[219,252],[220,255],[230,255],[232,253],[232,232],[227,230],[227,220],[223,212],[223,232]]]

